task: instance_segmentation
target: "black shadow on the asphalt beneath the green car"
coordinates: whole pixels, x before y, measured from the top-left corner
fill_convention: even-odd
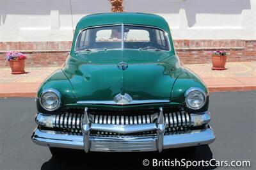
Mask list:
[[[52,157],[45,162],[41,169],[143,169],[143,168],[156,168],[160,167],[152,166],[152,159],[157,160],[182,160],[194,161],[194,160],[211,160],[212,152],[208,145],[198,146],[195,152],[189,153],[188,149],[172,149],[164,150],[161,153],[157,152],[137,152],[137,153],[102,153],[102,152],[90,152],[84,153],[83,151],[73,150],[67,151],[61,157]],[[144,159],[148,159],[150,164],[146,167],[142,162]],[[169,169],[171,167],[163,167],[163,169]],[[185,169],[185,167],[172,167],[172,169]],[[216,167],[193,167],[189,169],[215,169]]]

